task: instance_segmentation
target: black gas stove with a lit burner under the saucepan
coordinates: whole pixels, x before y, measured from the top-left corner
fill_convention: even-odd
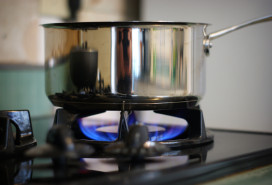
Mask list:
[[[197,106],[0,111],[0,126],[1,184],[200,184],[272,164],[272,134],[208,130]]]

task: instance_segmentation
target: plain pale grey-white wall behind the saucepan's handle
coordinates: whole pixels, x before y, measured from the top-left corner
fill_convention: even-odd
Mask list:
[[[142,20],[211,23],[208,31],[272,14],[272,0],[142,0]],[[272,21],[213,41],[201,101],[212,128],[272,132]]]

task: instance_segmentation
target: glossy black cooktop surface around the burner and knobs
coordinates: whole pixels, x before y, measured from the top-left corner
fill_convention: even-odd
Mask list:
[[[53,118],[32,120],[38,146]],[[272,135],[210,129],[214,142],[144,160],[90,156],[54,167],[52,159],[2,157],[1,184],[199,184],[272,163]]]

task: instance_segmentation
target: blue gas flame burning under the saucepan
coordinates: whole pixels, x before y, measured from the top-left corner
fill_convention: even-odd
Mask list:
[[[88,124],[84,123],[84,119],[78,120],[80,130],[89,139],[96,141],[115,141],[118,137],[118,122],[107,122],[95,119],[88,119]],[[137,119],[134,113],[130,114],[127,121],[128,125],[137,123]],[[143,123],[149,129],[149,139],[150,141],[165,141],[178,137],[186,129],[187,125],[169,125],[169,124],[156,124],[156,123]],[[112,128],[111,131],[99,131],[99,128]],[[150,128],[155,128],[155,131],[150,130]],[[157,131],[156,131],[156,128]]]

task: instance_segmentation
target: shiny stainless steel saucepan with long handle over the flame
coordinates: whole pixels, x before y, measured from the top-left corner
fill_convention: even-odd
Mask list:
[[[208,24],[45,24],[46,93],[74,111],[194,106],[205,91],[211,41],[266,16],[207,34]]]

